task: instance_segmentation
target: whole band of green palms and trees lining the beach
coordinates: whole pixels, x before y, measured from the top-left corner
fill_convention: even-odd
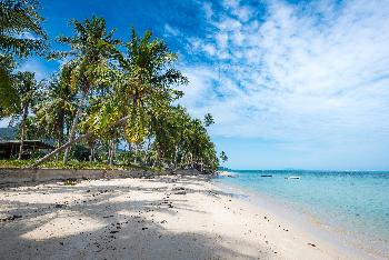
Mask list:
[[[38,10],[36,0],[0,1],[0,119],[17,122],[19,159],[26,139],[46,139],[56,150],[33,167],[71,159],[201,171],[218,167],[207,132],[213,118],[192,118],[177,104],[183,96],[178,87],[189,82],[163,40],[131,28],[126,42],[103,18],[92,17],[72,20],[73,33],[57,38],[68,50],[54,51]],[[18,71],[31,56],[58,60],[60,70],[41,81]],[[225,152],[220,159],[227,160]]]

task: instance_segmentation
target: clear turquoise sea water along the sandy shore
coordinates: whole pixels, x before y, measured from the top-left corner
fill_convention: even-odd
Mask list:
[[[389,172],[231,172],[237,178],[220,181],[287,202],[336,230],[389,242]],[[300,179],[286,179],[290,176]]]

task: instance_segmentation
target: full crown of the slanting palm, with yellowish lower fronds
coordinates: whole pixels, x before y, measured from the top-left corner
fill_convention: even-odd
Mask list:
[[[188,79],[172,68],[177,54],[170,52],[162,40],[151,40],[151,31],[147,31],[139,38],[132,28],[131,41],[124,46],[127,54],[117,53],[121,69],[117,93],[121,112],[130,116],[126,126],[129,147],[144,139],[147,126],[158,110],[167,109],[172,100],[182,96],[173,87],[188,83]]]

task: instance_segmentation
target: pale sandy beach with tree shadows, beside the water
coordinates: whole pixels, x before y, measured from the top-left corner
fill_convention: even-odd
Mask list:
[[[356,259],[207,178],[0,190],[0,259]]]

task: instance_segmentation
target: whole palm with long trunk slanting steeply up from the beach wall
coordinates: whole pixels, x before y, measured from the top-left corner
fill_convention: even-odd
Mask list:
[[[71,42],[70,40],[67,41]],[[76,42],[81,44],[78,40],[74,40],[74,44]],[[109,56],[112,51],[114,52],[116,59],[119,61],[120,68],[118,71],[109,69],[99,70],[104,72],[104,77],[100,77],[99,79],[100,82],[103,83],[106,82],[101,80],[101,78],[109,79],[110,77],[108,76],[111,76],[110,73],[114,74],[114,80],[112,81],[114,88],[113,92],[101,100],[101,102],[96,102],[94,106],[90,108],[90,116],[87,118],[86,122],[88,124],[86,134],[74,139],[69,138],[67,143],[37,160],[31,167],[39,166],[53,154],[69,148],[74,142],[91,138],[92,136],[99,137],[107,134],[107,131],[110,129],[123,124],[126,124],[126,140],[130,143],[139,143],[148,133],[147,126],[149,126],[149,121],[158,120],[158,114],[170,109],[170,103],[182,96],[181,91],[173,89],[174,86],[186,84],[188,82],[187,78],[183,77],[180,71],[172,68],[177,56],[169,51],[163,41],[158,39],[151,41],[150,31],[146,32],[143,38],[139,38],[132,29],[131,41],[124,46],[127,48],[127,53],[124,56],[118,50],[114,50],[113,44],[109,44],[107,41],[99,42],[101,43],[100,46],[106,46],[107,49],[109,49],[107,52],[103,51],[103,53]],[[57,56],[61,56],[61,53]],[[81,57],[81,61],[83,61],[84,58],[83,56]],[[69,71],[80,71],[82,67],[78,64],[79,59],[76,61],[77,62],[71,63],[74,66],[66,68],[70,68]],[[87,64],[88,63],[84,63],[83,67],[87,68]],[[79,69],[72,70],[71,68]],[[86,70],[86,68],[83,70]],[[99,68],[103,67],[100,66]],[[90,70],[86,74],[93,74],[92,72],[96,71],[98,70]],[[76,76],[80,78],[82,73],[77,72]],[[76,77],[69,78],[72,79]]]

